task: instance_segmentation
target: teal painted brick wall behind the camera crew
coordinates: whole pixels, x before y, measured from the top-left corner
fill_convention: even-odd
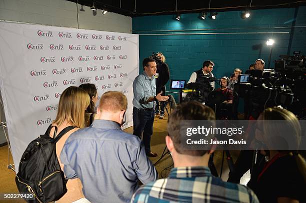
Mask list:
[[[297,11],[296,18],[294,13]],[[240,17],[240,11],[219,12],[216,20],[208,16],[199,19],[199,13],[182,14],[180,21],[174,15],[143,16],[132,18],[133,33],[139,34],[139,60],[154,52],[163,52],[169,65],[171,79],[188,80],[191,73],[201,68],[204,60],[215,63],[213,74],[216,77],[229,76],[234,68],[243,71],[257,58],[268,63],[270,48],[267,39],[272,38],[275,44],[272,50],[270,67],[273,59],[287,54],[291,33],[291,48],[306,54],[306,29],[274,28],[306,26],[306,6],[298,8],[277,8],[252,10],[247,19]],[[162,30],[182,29],[186,35],[141,35],[158,33],[179,33]],[[215,29],[215,30],[187,30]],[[155,31],[152,31],[155,30]],[[141,32],[139,32],[141,31]],[[148,32],[150,31],[150,32]],[[289,34],[194,34],[212,32],[289,32]],[[142,71],[142,67],[139,68]],[[167,86],[168,87],[168,86]],[[216,85],[217,87],[217,85]]]

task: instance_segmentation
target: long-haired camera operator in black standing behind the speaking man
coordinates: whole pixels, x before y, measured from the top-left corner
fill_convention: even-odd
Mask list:
[[[159,59],[160,62],[157,63],[156,74],[155,74],[156,95],[159,92],[162,92],[161,95],[164,96],[164,94],[165,94],[165,84],[168,82],[169,77],[170,77],[169,67],[164,62],[165,57],[162,53],[158,52],[157,56],[160,57],[160,59]],[[166,105],[166,102],[159,102],[158,100],[156,101],[155,115],[159,114],[160,119],[163,119],[163,117],[164,117],[165,105]],[[159,111],[159,106],[160,106],[160,111]]]

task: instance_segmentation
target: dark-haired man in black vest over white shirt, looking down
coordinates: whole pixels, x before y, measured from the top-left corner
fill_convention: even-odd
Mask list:
[[[210,60],[207,60],[207,61],[204,61],[203,62],[203,66],[201,69],[197,70],[197,71],[194,71],[190,78],[189,78],[189,81],[187,84],[191,83],[191,82],[195,82],[195,83],[201,83],[201,79],[202,77],[213,77],[213,74],[212,74],[212,68],[214,66],[214,63]],[[210,85],[212,87],[212,90],[214,89],[214,82],[210,82]]]

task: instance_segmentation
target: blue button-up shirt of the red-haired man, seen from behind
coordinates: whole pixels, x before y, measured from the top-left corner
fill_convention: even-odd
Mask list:
[[[129,202],[138,180],[146,184],[157,179],[140,139],[113,121],[94,120],[91,127],[72,133],[60,161],[67,178],[81,180],[91,203]]]

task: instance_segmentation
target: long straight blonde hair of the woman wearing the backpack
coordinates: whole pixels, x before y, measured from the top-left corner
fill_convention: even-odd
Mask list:
[[[77,127],[84,128],[85,109],[90,103],[87,92],[79,87],[70,86],[60,95],[57,115],[53,124],[60,126],[64,120]]]

